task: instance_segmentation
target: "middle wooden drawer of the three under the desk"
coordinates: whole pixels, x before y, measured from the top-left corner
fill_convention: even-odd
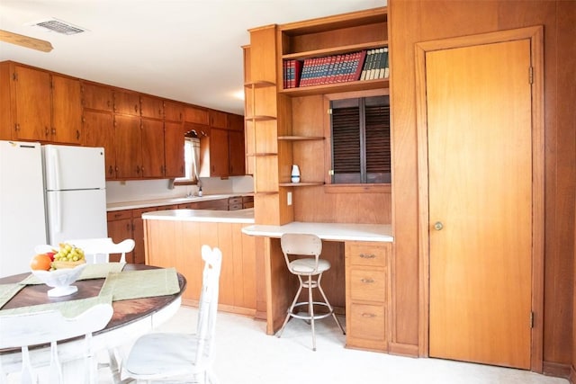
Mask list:
[[[386,300],[386,272],[368,268],[351,268],[350,298],[384,302]]]

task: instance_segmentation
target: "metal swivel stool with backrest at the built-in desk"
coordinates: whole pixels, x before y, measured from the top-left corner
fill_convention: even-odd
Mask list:
[[[312,349],[316,351],[316,334],[314,330],[314,321],[320,318],[334,317],[336,324],[346,335],[344,328],[340,325],[338,318],[334,314],[334,308],[330,305],[326,294],[322,287],[320,286],[320,279],[322,278],[322,273],[330,269],[330,262],[325,259],[320,259],[320,254],[322,252],[322,240],[320,237],[311,234],[284,234],[280,238],[280,246],[282,247],[282,252],[284,253],[284,259],[288,270],[298,276],[300,281],[300,286],[296,292],[296,296],[293,299],[292,305],[287,310],[286,318],[284,319],[284,324],[282,328],[278,331],[278,337],[284,332],[284,327],[288,323],[291,317],[301,318],[302,320],[309,321],[312,328]],[[301,256],[296,257],[295,256]],[[302,257],[304,256],[304,257]],[[293,260],[291,260],[291,258]],[[315,277],[316,280],[312,280]],[[298,301],[302,288],[308,290],[308,300]],[[324,301],[314,301],[312,298],[312,289],[317,288],[322,295]],[[307,307],[307,313],[297,312],[296,310],[300,307]],[[314,306],[325,307],[327,311],[325,312],[315,312]]]

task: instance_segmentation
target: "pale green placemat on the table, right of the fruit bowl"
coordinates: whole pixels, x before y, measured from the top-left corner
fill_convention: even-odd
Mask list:
[[[163,268],[108,273],[100,294],[112,295],[112,300],[117,301],[173,295],[179,291],[175,268]]]

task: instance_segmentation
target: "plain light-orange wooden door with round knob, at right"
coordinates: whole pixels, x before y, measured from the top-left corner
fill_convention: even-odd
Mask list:
[[[426,53],[430,356],[530,368],[529,68],[528,39]]]

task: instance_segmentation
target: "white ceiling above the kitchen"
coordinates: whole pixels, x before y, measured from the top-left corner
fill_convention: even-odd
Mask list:
[[[0,42],[0,61],[243,114],[248,29],[375,8],[386,0],[2,0],[0,29],[49,40],[49,53]],[[26,25],[56,18],[88,31]]]

